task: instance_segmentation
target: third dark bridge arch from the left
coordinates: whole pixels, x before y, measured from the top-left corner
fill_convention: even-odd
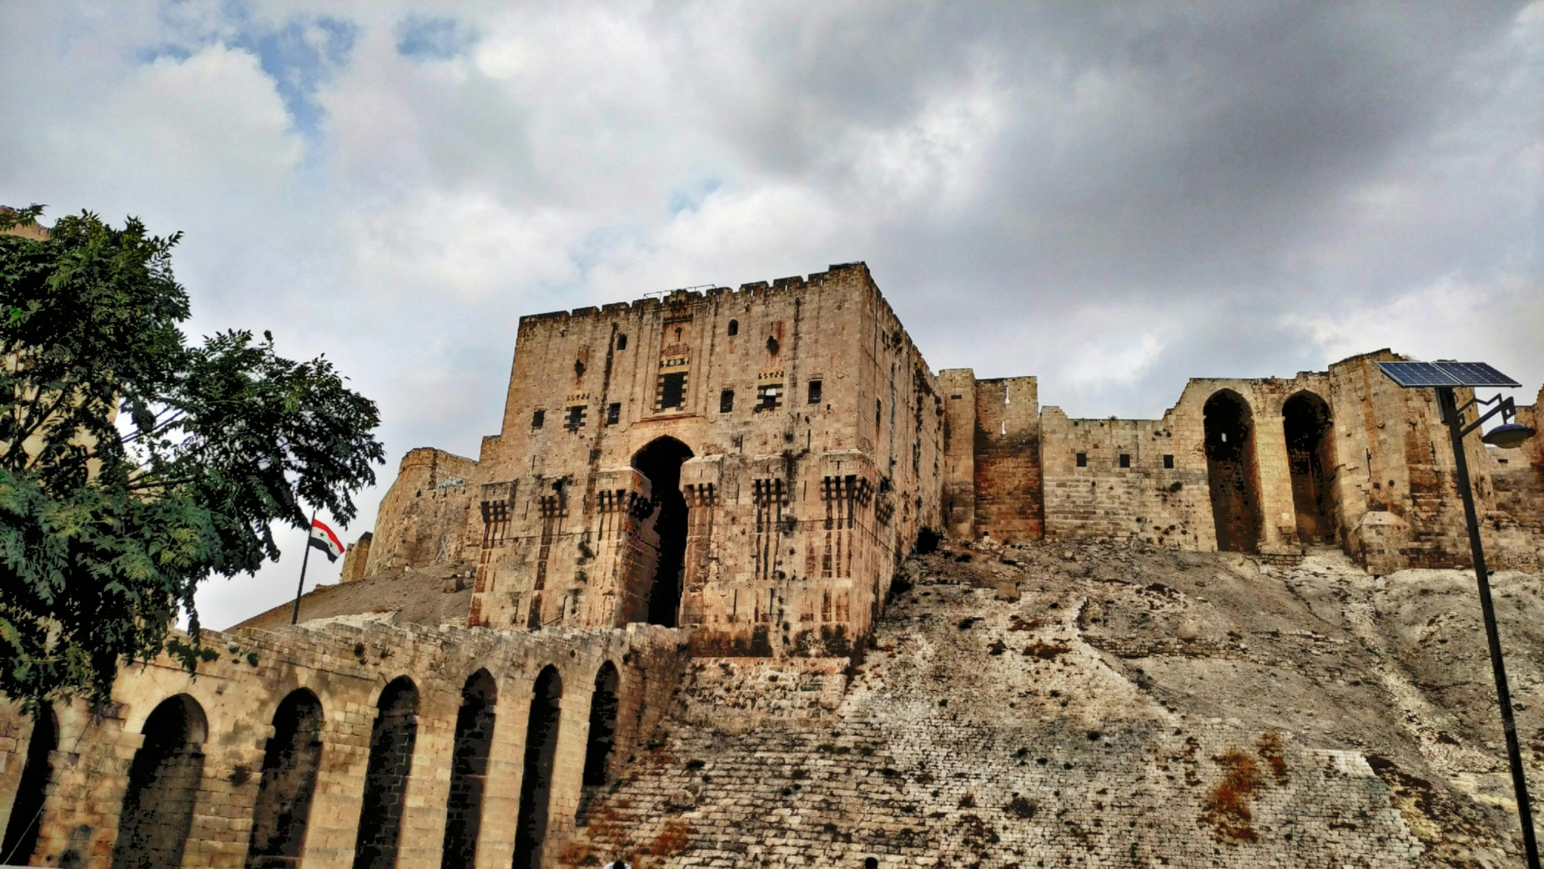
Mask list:
[[[252,809],[247,869],[292,869],[306,844],[310,798],[321,767],[321,701],[300,688],[273,713],[262,781]]]

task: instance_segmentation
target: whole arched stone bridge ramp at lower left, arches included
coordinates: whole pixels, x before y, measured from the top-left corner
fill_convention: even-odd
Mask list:
[[[659,721],[678,631],[329,625],[205,634],[190,678],[113,702],[0,707],[11,863],[542,866]]]

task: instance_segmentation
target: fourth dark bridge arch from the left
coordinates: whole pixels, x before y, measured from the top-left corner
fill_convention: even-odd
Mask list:
[[[392,869],[401,841],[408,804],[412,747],[418,741],[418,688],[412,679],[392,679],[375,704],[371,758],[364,767],[364,803],[360,804],[354,869]]]

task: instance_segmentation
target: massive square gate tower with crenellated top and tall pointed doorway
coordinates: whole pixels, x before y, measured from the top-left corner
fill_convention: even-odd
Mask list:
[[[716,654],[845,654],[942,522],[942,415],[862,264],[527,316],[468,526],[472,619],[636,619],[675,492],[633,465],[675,443],[687,540],[664,617]]]

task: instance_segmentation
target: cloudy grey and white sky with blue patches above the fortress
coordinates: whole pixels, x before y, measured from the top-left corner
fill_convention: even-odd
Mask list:
[[[12,0],[0,82],[0,202],[185,232],[190,335],[380,404],[347,540],[497,431],[522,313],[852,259],[1073,415],[1385,346],[1544,381],[1544,0]],[[205,625],[293,594],[284,540]]]

